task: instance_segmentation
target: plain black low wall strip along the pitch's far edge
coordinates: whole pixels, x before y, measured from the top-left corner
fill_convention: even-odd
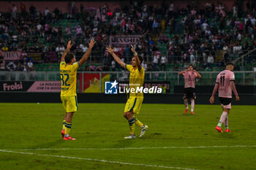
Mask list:
[[[183,104],[183,94],[148,94],[144,96],[146,104]],[[256,105],[256,94],[240,94],[241,101],[235,105]],[[197,104],[209,104],[211,94],[197,94]],[[105,95],[104,93],[78,93],[78,103],[125,103],[125,94]],[[0,102],[5,103],[61,103],[60,93],[0,93]],[[219,104],[216,98],[215,104]]]

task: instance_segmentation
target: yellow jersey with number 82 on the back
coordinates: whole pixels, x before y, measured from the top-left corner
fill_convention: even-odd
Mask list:
[[[77,95],[77,70],[79,62],[67,65],[61,61],[60,77],[61,77],[61,96],[76,96]]]

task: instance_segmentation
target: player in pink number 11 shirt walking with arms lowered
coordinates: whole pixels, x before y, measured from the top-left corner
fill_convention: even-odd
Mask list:
[[[234,65],[233,63],[227,63],[226,69],[222,72],[220,72],[217,75],[217,80],[215,83],[214,91],[212,92],[210,103],[214,103],[214,96],[219,90],[219,101],[222,105],[222,116],[219,119],[219,123],[216,126],[216,130],[222,133],[222,123],[225,123],[226,130],[225,132],[231,132],[228,128],[228,117],[227,115],[230,112],[231,109],[231,101],[232,101],[232,90],[236,95],[236,101],[239,101],[240,98],[238,96],[238,93],[236,91],[236,85],[235,85],[235,74],[233,73]]]

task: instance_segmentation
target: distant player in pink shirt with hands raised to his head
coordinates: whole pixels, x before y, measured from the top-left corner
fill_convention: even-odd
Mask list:
[[[189,65],[187,70],[181,71],[178,74],[184,76],[184,104],[185,104],[185,111],[184,114],[187,113],[189,110],[189,103],[187,101],[188,98],[191,99],[191,114],[194,114],[194,107],[195,107],[195,78],[201,78],[201,75],[193,69],[192,64]]]

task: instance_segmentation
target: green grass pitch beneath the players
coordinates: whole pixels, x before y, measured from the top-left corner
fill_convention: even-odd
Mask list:
[[[149,126],[139,138],[129,135],[124,104],[79,104],[72,121],[76,141],[61,139],[61,104],[0,104],[1,150],[64,155],[126,163],[187,169],[255,169],[256,147],[148,148],[143,150],[22,150],[37,148],[197,147],[255,145],[255,106],[233,106],[231,133],[214,128],[222,114],[219,105],[195,105],[195,115],[184,115],[182,104],[143,104],[138,118]],[[225,130],[222,125],[222,130]],[[20,151],[22,150],[22,151]],[[164,169],[0,152],[0,169]]]

